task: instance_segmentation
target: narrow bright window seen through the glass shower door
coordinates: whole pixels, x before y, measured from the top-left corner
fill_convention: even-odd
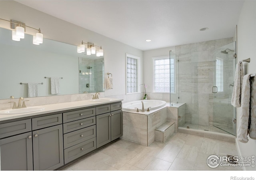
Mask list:
[[[216,58],[216,86],[217,92],[223,91],[223,60]]]

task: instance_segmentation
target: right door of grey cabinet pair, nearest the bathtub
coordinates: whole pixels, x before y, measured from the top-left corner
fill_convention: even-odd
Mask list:
[[[122,110],[111,112],[111,141],[123,135],[123,114]]]

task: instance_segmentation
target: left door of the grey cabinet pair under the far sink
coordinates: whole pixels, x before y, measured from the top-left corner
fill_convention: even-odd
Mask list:
[[[97,148],[111,141],[110,113],[96,116],[96,144]]]

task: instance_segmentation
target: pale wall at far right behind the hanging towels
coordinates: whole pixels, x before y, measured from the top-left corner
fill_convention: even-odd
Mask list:
[[[245,74],[256,73],[256,1],[245,1],[237,25],[237,60],[250,58],[243,62]],[[237,125],[240,124],[240,110],[237,108]],[[238,128],[237,128],[238,129]],[[248,137],[249,138],[249,137]],[[247,143],[236,141],[240,156],[256,155],[256,140],[249,138]],[[246,170],[255,170],[251,166]]]

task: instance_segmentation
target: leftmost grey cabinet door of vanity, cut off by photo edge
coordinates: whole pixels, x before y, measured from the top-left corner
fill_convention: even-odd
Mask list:
[[[0,140],[0,170],[33,170],[32,132]]]

